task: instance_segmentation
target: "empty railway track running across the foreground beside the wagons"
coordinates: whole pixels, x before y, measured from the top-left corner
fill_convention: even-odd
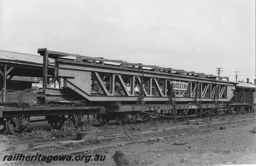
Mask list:
[[[244,123],[245,122],[245,123]],[[228,124],[228,123],[241,123],[241,124]],[[156,127],[151,127],[148,129],[142,129],[141,131],[136,131],[133,133],[127,133],[124,134],[124,132],[102,132],[99,133],[99,138],[98,140],[101,140],[102,143],[101,145],[91,145],[86,147],[86,149],[82,148],[82,149],[78,149],[78,150],[65,150],[62,151],[61,154],[74,154],[74,153],[82,153],[84,151],[90,151],[93,149],[99,149],[99,148],[107,148],[107,147],[116,147],[116,146],[121,146],[124,144],[133,144],[133,143],[137,143],[137,142],[143,142],[143,141],[148,141],[148,140],[156,140],[156,139],[163,139],[163,138],[169,138],[169,137],[174,137],[174,136],[178,136],[178,135],[185,135],[185,134],[191,134],[191,133],[196,133],[196,132],[207,132],[209,130],[215,130],[218,129],[216,128],[216,125],[225,125],[226,127],[231,127],[231,126],[236,126],[236,125],[243,125],[243,124],[252,124],[255,123],[255,118],[246,118],[246,119],[234,119],[234,120],[225,120],[225,121],[212,121],[211,124],[205,124],[204,122],[200,122],[198,125],[182,125],[182,124],[177,124],[177,125],[173,125],[173,126],[169,126],[169,125],[165,125],[165,126],[160,126],[157,128]],[[205,130],[206,129],[206,130]],[[173,131],[175,130],[179,130],[179,133],[175,133],[173,134]],[[164,132],[165,135],[161,136],[161,137],[156,137],[155,135],[157,135],[157,133],[160,132]],[[134,140],[132,137],[143,137],[143,135],[151,135],[152,138],[150,139],[138,139],[138,140]],[[106,136],[110,136],[110,137],[106,137]],[[116,143],[116,144],[112,144],[111,142],[113,141],[112,139],[116,139],[116,138],[124,138],[124,141],[121,141],[120,143]],[[130,139],[126,139],[126,138],[130,138]],[[4,146],[19,146],[19,145],[24,145],[24,144],[33,144],[32,148],[28,148],[28,149],[23,149],[23,150],[11,150],[11,151],[3,151],[0,152],[0,155],[6,154],[6,153],[14,153],[14,152],[21,152],[21,151],[38,151],[40,149],[45,149],[45,148],[51,148],[51,147],[55,147],[58,146],[60,144],[60,142],[62,142],[61,144],[65,144],[65,143],[69,143],[70,141],[76,142],[76,136],[71,136],[68,138],[56,138],[56,139],[44,139],[44,140],[29,140],[29,141],[21,141],[18,143],[14,143],[12,142],[12,144],[10,145],[10,143],[8,144],[0,144],[0,148],[4,147]],[[66,142],[65,142],[66,141]],[[106,143],[108,142],[108,143]],[[110,145],[109,145],[110,143]],[[56,154],[59,155],[59,154]]]

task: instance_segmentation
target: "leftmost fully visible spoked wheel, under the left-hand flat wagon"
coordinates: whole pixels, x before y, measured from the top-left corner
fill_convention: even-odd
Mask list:
[[[20,120],[21,117],[9,117],[9,118],[6,118],[6,122],[5,122],[5,126],[6,126],[6,129],[7,131],[10,133],[10,134],[14,134],[14,135],[20,135],[22,133],[24,133],[28,126],[22,128],[22,129],[18,129],[18,120]],[[29,117],[26,117],[25,120],[29,120]]]

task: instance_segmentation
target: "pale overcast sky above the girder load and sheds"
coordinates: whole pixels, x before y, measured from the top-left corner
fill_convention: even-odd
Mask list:
[[[255,79],[253,0],[1,0],[0,50]]]

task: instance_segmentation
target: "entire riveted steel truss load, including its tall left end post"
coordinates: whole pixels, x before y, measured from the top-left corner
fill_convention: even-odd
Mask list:
[[[45,61],[45,101],[70,101],[70,92],[89,101],[113,102],[136,102],[141,98],[144,102],[168,102],[174,98],[177,102],[210,102],[216,99],[224,102],[234,96],[235,84],[221,80],[228,79],[227,77],[84,57],[47,49],[38,49],[38,53],[44,56]],[[76,59],[63,59],[68,56]],[[54,75],[46,74],[48,57],[56,59]],[[63,79],[62,87],[50,87],[54,81],[60,82],[60,79]]]

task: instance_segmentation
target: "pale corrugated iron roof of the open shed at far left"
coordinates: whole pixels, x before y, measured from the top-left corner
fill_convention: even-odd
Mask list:
[[[43,56],[33,55],[33,54],[24,54],[24,53],[19,53],[19,52],[4,51],[4,50],[0,50],[0,59],[43,64]],[[54,60],[52,60],[51,58],[49,58],[49,60],[50,60],[50,62],[54,62]]]

